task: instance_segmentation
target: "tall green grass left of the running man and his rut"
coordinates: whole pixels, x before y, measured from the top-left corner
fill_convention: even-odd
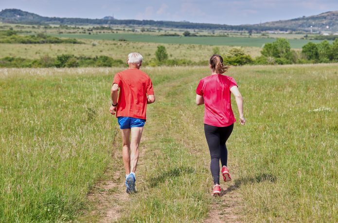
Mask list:
[[[83,207],[116,133],[101,70],[1,69],[0,222],[69,221]]]

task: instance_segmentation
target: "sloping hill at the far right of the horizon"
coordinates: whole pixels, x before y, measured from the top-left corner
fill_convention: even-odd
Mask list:
[[[271,28],[284,27],[310,31],[312,26],[313,32],[338,32],[338,11],[326,12],[317,16],[302,16],[289,20],[279,20],[256,24],[255,26],[267,26]],[[328,26],[328,28],[327,28]]]

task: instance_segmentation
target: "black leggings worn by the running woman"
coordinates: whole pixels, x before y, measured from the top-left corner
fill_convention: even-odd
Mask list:
[[[216,127],[204,124],[205,138],[209,146],[211,163],[210,170],[213,175],[213,184],[219,184],[219,159],[222,166],[228,162],[228,149],[225,143],[231,135],[233,124],[227,127]]]

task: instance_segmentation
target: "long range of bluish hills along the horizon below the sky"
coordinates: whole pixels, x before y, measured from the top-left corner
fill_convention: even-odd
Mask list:
[[[62,24],[62,25],[149,25],[154,27],[167,27],[178,29],[209,29],[209,30],[235,30],[235,31],[338,31],[338,11],[322,13],[317,16],[308,16],[290,20],[266,22],[254,25],[221,25],[209,23],[192,23],[187,21],[154,21],[154,20],[135,20],[115,19],[113,16],[106,16],[102,19],[89,18],[60,18],[45,17],[34,13],[24,12],[19,9],[4,9],[0,12],[0,21],[5,23],[24,23],[24,24]]]

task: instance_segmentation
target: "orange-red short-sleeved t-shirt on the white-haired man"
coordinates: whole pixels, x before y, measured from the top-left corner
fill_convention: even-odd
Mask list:
[[[154,95],[153,84],[139,69],[126,69],[117,73],[114,82],[120,87],[116,116],[145,118],[147,94]]]

